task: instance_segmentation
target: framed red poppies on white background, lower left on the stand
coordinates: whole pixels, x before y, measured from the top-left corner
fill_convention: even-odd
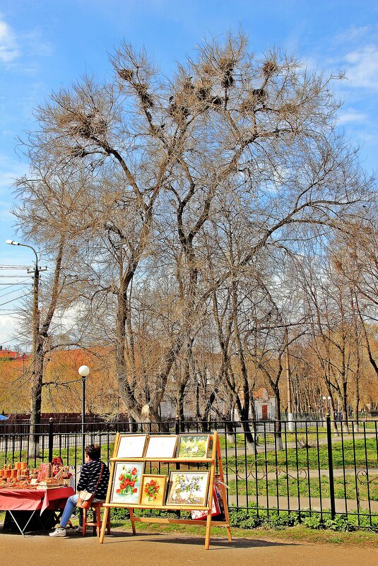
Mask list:
[[[143,462],[115,462],[110,503],[138,505],[141,497]]]

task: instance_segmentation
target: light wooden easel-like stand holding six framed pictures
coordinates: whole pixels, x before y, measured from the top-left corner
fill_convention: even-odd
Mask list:
[[[117,459],[116,458],[116,454],[117,454],[117,446],[118,446],[118,442],[119,442],[119,434],[117,435],[115,444],[114,444],[114,453],[113,453],[113,457],[111,459],[112,461],[112,467],[111,467],[111,471],[110,471],[110,482],[109,482],[109,488],[107,490],[107,499],[106,502],[104,504],[104,515],[102,518],[102,528],[101,528],[101,533],[100,533],[100,543],[102,543],[104,541],[104,536],[105,536],[105,529],[107,526],[107,517],[108,514],[110,513],[110,508],[111,507],[123,507],[126,509],[129,509],[130,512],[130,519],[131,519],[131,529],[133,531],[133,534],[136,534],[136,528],[135,528],[135,524],[140,522],[149,522],[149,523],[184,523],[184,524],[191,524],[191,525],[206,525],[206,534],[205,534],[205,548],[206,550],[208,550],[209,546],[210,546],[210,535],[211,535],[211,526],[225,526],[227,529],[227,536],[228,536],[228,541],[231,542],[232,541],[232,537],[231,537],[231,528],[230,528],[230,517],[228,514],[228,505],[227,505],[227,497],[226,497],[226,491],[225,491],[225,483],[224,483],[224,476],[223,476],[223,466],[222,466],[222,456],[220,454],[220,442],[219,442],[219,436],[218,436],[218,432],[214,432],[213,435],[211,435],[210,440],[213,440],[213,448],[211,450],[211,457],[210,458],[164,458],[164,459],[159,459],[159,458],[129,458],[129,461],[135,461],[135,462],[170,462],[172,464],[210,464],[210,478],[209,478],[209,483],[208,483],[208,495],[207,495],[207,503],[204,506],[198,506],[198,507],[191,507],[191,509],[193,510],[201,510],[201,511],[207,511],[207,517],[206,519],[203,520],[193,520],[193,519],[167,519],[165,517],[135,517],[134,515],[134,509],[151,509],[151,506],[149,505],[124,505],[122,503],[112,503],[110,502],[111,500],[111,493],[112,493],[112,483],[114,480],[114,469],[115,469],[115,463],[116,461],[122,461],[122,459]],[[223,497],[223,504],[224,504],[224,512],[225,512],[225,520],[224,521],[213,521],[212,517],[211,517],[211,511],[212,511],[212,507],[213,507],[213,487],[214,487],[214,480],[215,480],[215,467],[216,464],[218,462],[218,476],[220,477],[220,490],[222,493],[222,497]],[[178,467],[178,466],[176,466]],[[165,511],[167,510],[172,510],[172,509],[182,509],[182,511],[188,511],[187,507],[170,507],[169,505],[161,505],[159,507],[154,506],[153,509],[163,509]]]

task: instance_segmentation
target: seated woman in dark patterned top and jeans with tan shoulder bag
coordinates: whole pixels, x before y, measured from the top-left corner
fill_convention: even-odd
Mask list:
[[[107,465],[100,460],[100,446],[98,444],[90,444],[85,448],[85,463],[81,467],[80,479],[78,480],[78,485],[76,489],[78,491],[87,490],[89,493],[95,493],[93,502],[105,501],[107,494],[107,484],[109,483],[110,472]],[[102,476],[100,477],[102,466]],[[97,485],[97,488],[96,488]],[[49,536],[66,536],[66,526],[69,522],[69,518],[75,509],[78,502],[78,493],[76,495],[71,495],[66,502],[63,514],[61,515],[61,521],[57,529]],[[83,531],[83,509],[79,507],[79,526],[76,532],[81,533]]]

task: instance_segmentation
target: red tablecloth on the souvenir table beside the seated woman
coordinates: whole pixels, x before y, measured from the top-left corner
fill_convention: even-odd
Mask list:
[[[72,488],[51,490],[0,490],[1,511],[35,511],[40,509],[63,509],[66,500],[75,492]]]

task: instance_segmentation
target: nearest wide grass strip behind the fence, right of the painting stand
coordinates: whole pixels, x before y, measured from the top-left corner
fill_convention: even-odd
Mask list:
[[[250,478],[247,480],[229,480],[228,486],[230,488],[230,495],[271,495],[278,497],[297,497],[298,492],[300,497],[329,497],[329,478],[321,476],[321,485],[317,478],[310,478],[309,480],[297,481],[293,478],[277,478],[274,480],[262,479],[254,480]],[[378,476],[369,476],[370,485],[370,501],[378,501]],[[247,484],[247,485],[246,485]],[[335,488],[336,499],[344,499],[346,497],[350,500],[356,500],[356,484],[354,476],[345,477],[345,488],[343,478],[334,478],[333,482]],[[367,484],[357,482],[358,495],[360,500],[367,501]],[[278,490],[278,493],[277,493]]]

